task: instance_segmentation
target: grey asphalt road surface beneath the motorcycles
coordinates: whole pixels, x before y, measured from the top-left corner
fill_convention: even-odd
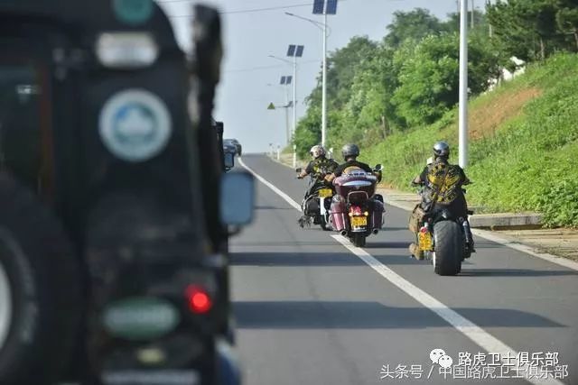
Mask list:
[[[293,170],[265,156],[242,161],[301,203],[306,183]],[[578,271],[477,238],[461,274],[440,277],[409,258],[408,213],[395,207],[367,254],[319,226],[300,228],[300,213],[263,182],[255,208],[254,223],[231,240],[244,383],[578,384]],[[432,363],[436,348],[461,365]],[[565,376],[548,366],[560,380],[514,378],[518,365],[532,372],[556,357],[568,365]]]

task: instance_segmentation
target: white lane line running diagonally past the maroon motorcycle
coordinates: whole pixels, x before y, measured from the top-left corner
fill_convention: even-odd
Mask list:
[[[296,208],[297,210],[301,210],[301,206],[298,205],[291,197],[286,195],[279,188],[276,188],[272,183],[268,182],[260,175],[256,174],[254,170],[249,169],[247,165],[245,165],[243,160],[239,159],[238,161],[239,164],[245,169],[247,169],[247,171],[249,171],[251,174],[253,174],[253,176],[256,179],[258,179],[261,183],[266,185],[266,187],[271,188],[275,192],[275,194],[279,195],[279,197],[284,198],[284,200],[289,205],[294,206],[294,208]],[[490,335],[480,326],[474,324],[466,317],[461,316],[460,314],[452,310],[450,307],[447,307],[436,298],[433,298],[431,295],[427,294],[424,290],[417,288],[413,283],[401,277],[394,270],[389,269],[386,265],[378,261],[375,257],[373,257],[365,250],[353,246],[349,240],[345,239],[341,235],[331,235],[331,238],[341,243],[346,249],[348,249],[350,252],[359,257],[361,261],[364,261],[366,264],[368,264],[368,266],[371,269],[377,271],[379,275],[381,275],[383,278],[396,285],[397,288],[403,290],[408,296],[414,298],[417,302],[424,305],[424,307],[427,307],[428,309],[432,310],[433,313],[437,314],[438,316],[441,316],[446,322],[452,325],[462,335],[465,335],[466,337],[471,339],[471,341],[473,341],[475,344],[478,344],[488,353],[499,353],[500,357],[508,353],[510,354],[510,356],[514,357],[517,356],[517,351],[510,348],[507,344],[504,344],[498,338],[494,337],[493,335]],[[517,359],[515,360],[515,362],[517,362],[517,367],[522,369],[521,372],[523,372],[524,369],[527,369],[528,366],[527,364],[521,364],[520,362],[518,362]],[[555,380],[553,378],[548,379],[531,378],[524,380],[527,380],[528,382],[536,385],[564,385],[564,382],[560,380]]]

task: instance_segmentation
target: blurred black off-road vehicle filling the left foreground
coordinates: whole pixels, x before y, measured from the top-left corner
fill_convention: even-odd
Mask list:
[[[153,383],[151,378],[163,382],[163,376],[176,375],[182,383],[214,384],[224,381],[218,368],[225,361],[228,383],[237,383],[234,363],[221,354],[221,337],[230,330],[228,230],[219,222],[222,148],[210,121],[218,78],[207,69],[215,61],[206,58],[218,50],[219,18],[199,11],[197,23],[209,33],[196,41],[197,61],[191,63],[152,1],[0,4],[0,74],[2,67],[6,74],[16,69],[22,78],[15,86],[23,87],[14,103],[33,95],[29,110],[37,111],[31,117],[24,114],[29,110],[2,110],[0,188],[12,186],[4,179],[14,179],[22,186],[14,190],[33,192],[51,221],[61,224],[58,236],[70,241],[70,259],[62,262],[68,272],[61,282],[38,273],[36,289],[46,289],[39,300],[47,301],[60,290],[61,307],[46,311],[62,308],[68,313],[59,316],[74,318],[53,337],[59,340],[49,346],[53,350],[42,342],[51,338],[51,323],[60,322],[54,315],[46,316],[49,325],[37,325],[43,333],[37,352],[12,340],[0,346],[0,383]],[[107,67],[95,47],[108,32],[152,36],[158,56],[135,69]],[[190,78],[197,88],[189,87]],[[2,81],[6,89],[14,86],[6,77]],[[120,106],[111,116],[117,120],[107,124],[107,106],[115,103]],[[199,105],[192,119],[188,103]],[[163,145],[144,158],[126,150],[134,142],[128,152],[118,150],[126,142],[122,134],[134,133],[127,139],[133,140],[147,126],[126,123],[127,116],[148,116],[137,110],[156,113],[150,120],[157,123],[159,116],[168,119]],[[108,129],[117,130],[109,138],[117,143],[107,142]],[[148,133],[145,138],[153,137]],[[42,234],[38,239],[40,249]],[[207,307],[193,303],[199,293],[209,299]],[[155,331],[154,314],[173,322]],[[20,355],[29,367],[17,368]]]

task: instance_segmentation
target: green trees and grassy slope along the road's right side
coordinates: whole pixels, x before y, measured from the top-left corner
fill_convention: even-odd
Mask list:
[[[472,205],[539,211],[548,225],[578,226],[578,5],[508,0],[475,13],[469,38]],[[457,157],[457,15],[398,12],[382,41],[355,37],[331,53],[329,142],[357,142],[385,181],[408,188],[433,142]],[[492,37],[489,38],[489,23]],[[485,93],[489,78],[527,61],[527,74]],[[294,136],[307,156],[320,141],[321,77]],[[456,161],[453,159],[453,161]]]

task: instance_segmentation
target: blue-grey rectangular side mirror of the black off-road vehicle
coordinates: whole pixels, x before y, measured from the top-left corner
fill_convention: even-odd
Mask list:
[[[253,220],[255,180],[247,171],[233,171],[220,179],[220,221],[223,225],[247,225]]]

